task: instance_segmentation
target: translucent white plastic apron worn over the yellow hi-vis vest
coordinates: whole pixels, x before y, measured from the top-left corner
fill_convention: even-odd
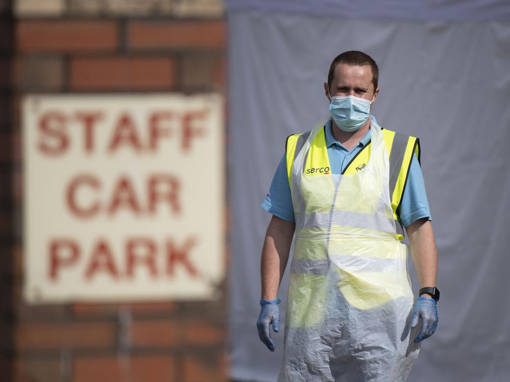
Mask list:
[[[292,169],[296,219],[278,382],[405,381],[418,356],[407,244],[396,237],[384,136],[371,121],[367,166],[305,174],[312,129]]]

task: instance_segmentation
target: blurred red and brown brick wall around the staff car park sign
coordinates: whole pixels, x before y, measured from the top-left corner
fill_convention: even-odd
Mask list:
[[[0,7],[4,3],[0,375],[8,377],[2,380],[225,380],[225,285],[221,301],[210,303],[28,306],[22,301],[19,137],[19,100],[25,93],[224,92],[222,3],[18,0]]]

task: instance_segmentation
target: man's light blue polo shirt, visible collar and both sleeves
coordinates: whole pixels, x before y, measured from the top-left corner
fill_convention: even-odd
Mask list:
[[[368,142],[370,142],[370,130],[368,130],[367,134],[358,143],[358,145],[350,151],[333,137],[333,134],[331,133],[331,120],[329,120],[326,124],[325,138],[331,173],[341,174],[351,161],[352,157],[356,155],[356,153],[358,153]],[[269,213],[281,217],[289,222],[295,221],[285,153],[276,168],[271,186],[269,187],[269,194],[267,194],[266,198],[262,202],[261,207]],[[417,219],[422,217],[427,217],[428,220],[432,220],[427,201],[427,194],[425,193],[423,174],[416,155],[413,155],[409,176],[407,177],[407,183],[405,184],[402,195],[402,202],[396,212],[397,215],[400,216],[400,221],[404,227],[410,226]]]

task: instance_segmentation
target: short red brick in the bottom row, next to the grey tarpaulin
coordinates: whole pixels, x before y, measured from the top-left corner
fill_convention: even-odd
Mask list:
[[[185,382],[224,382],[226,376],[226,354],[218,353],[208,358],[184,358]]]

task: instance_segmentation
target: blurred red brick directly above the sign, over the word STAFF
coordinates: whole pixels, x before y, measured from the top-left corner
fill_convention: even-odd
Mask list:
[[[71,61],[76,90],[169,89],[175,83],[171,58],[103,58]]]

